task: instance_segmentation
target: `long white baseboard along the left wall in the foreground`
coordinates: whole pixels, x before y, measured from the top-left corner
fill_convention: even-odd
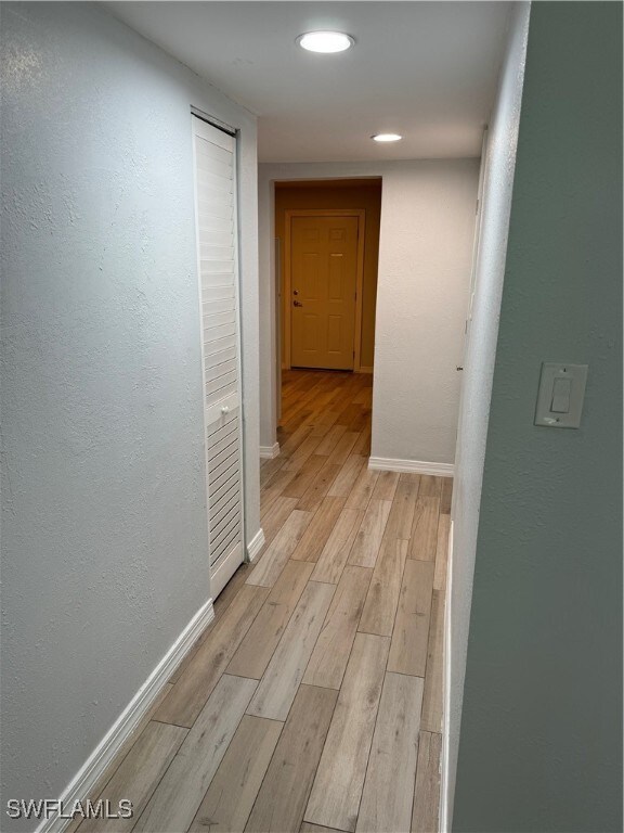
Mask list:
[[[167,680],[213,618],[212,599],[208,599],[134,694],[94,752],[65,787],[63,794],[58,796],[65,807],[73,806],[75,802],[87,799],[91,790],[102,778],[106,767],[148,712]],[[72,824],[72,819],[53,816],[37,828],[37,833],[61,833]]]

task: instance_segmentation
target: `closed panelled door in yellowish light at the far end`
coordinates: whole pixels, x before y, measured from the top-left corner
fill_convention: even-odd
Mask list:
[[[359,218],[290,222],[290,364],[353,370]]]

